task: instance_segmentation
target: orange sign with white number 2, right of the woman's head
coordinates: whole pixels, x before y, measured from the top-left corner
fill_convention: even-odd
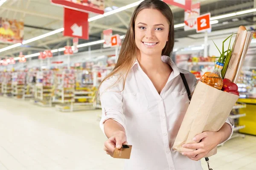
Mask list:
[[[204,15],[200,15],[197,18],[197,28],[196,28],[197,33],[206,31],[207,29],[211,28],[210,17],[211,17],[211,13],[207,13]]]

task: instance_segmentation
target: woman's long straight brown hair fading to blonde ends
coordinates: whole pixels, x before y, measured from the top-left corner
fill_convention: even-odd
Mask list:
[[[136,61],[137,55],[140,54],[140,50],[137,48],[137,45],[135,44],[135,31],[134,31],[135,20],[137,18],[138,13],[141,10],[148,9],[148,8],[157,9],[168,20],[168,23],[170,26],[169,38],[168,38],[168,42],[166,42],[165,48],[163,48],[162,55],[169,56],[172,53],[172,49],[174,46],[174,22],[173,22],[172,10],[162,0],[144,0],[142,3],[140,3],[140,5],[137,6],[137,8],[134,10],[134,13],[131,17],[129,28],[122,42],[120,54],[116,62],[115,68],[110,74],[108,74],[107,77],[105,77],[102,80],[102,82],[104,82],[106,79],[112,77],[113,75],[118,75],[119,77],[117,81],[111,87],[116,85],[118,82],[120,82],[122,78],[124,78],[122,91],[125,88],[126,77],[132,65]],[[99,87],[102,85],[102,82],[99,85]],[[98,93],[99,93],[99,90],[97,91],[96,96],[98,96]]]

